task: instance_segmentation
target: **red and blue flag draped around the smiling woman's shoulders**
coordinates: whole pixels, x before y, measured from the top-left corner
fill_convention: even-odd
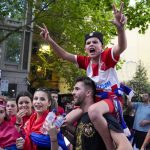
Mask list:
[[[45,111],[43,115],[36,121],[37,113],[34,113],[25,128],[25,143],[24,150],[37,150],[37,147],[49,148],[50,149],[50,137],[49,135],[42,134],[40,129],[48,115],[49,111]],[[36,121],[36,122],[35,122]],[[64,137],[59,132],[57,134],[58,145],[62,150],[67,150]]]

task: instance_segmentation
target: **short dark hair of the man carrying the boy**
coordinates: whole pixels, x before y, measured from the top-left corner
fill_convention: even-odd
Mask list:
[[[93,98],[95,99],[95,95],[96,95],[96,85],[94,83],[94,81],[92,79],[90,79],[89,77],[78,77],[75,80],[75,83],[77,82],[83,82],[85,86],[90,87],[93,91]]]

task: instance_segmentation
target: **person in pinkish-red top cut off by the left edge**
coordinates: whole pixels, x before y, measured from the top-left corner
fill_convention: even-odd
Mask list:
[[[17,150],[16,139],[20,134],[7,119],[6,98],[0,96],[0,149]]]

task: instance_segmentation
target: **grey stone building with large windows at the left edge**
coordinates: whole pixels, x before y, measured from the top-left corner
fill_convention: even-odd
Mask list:
[[[23,21],[0,20],[1,94],[15,97],[19,91],[27,89],[32,45],[31,17],[28,13]]]

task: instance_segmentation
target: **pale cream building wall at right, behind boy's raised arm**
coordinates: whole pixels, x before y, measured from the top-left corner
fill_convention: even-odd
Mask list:
[[[128,81],[133,78],[136,72],[139,61],[147,70],[147,77],[150,81],[150,26],[145,34],[139,34],[138,28],[127,30],[127,49],[121,54],[121,59],[125,60],[122,69],[118,70],[118,77],[120,81]],[[113,43],[117,42],[117,38]]]

